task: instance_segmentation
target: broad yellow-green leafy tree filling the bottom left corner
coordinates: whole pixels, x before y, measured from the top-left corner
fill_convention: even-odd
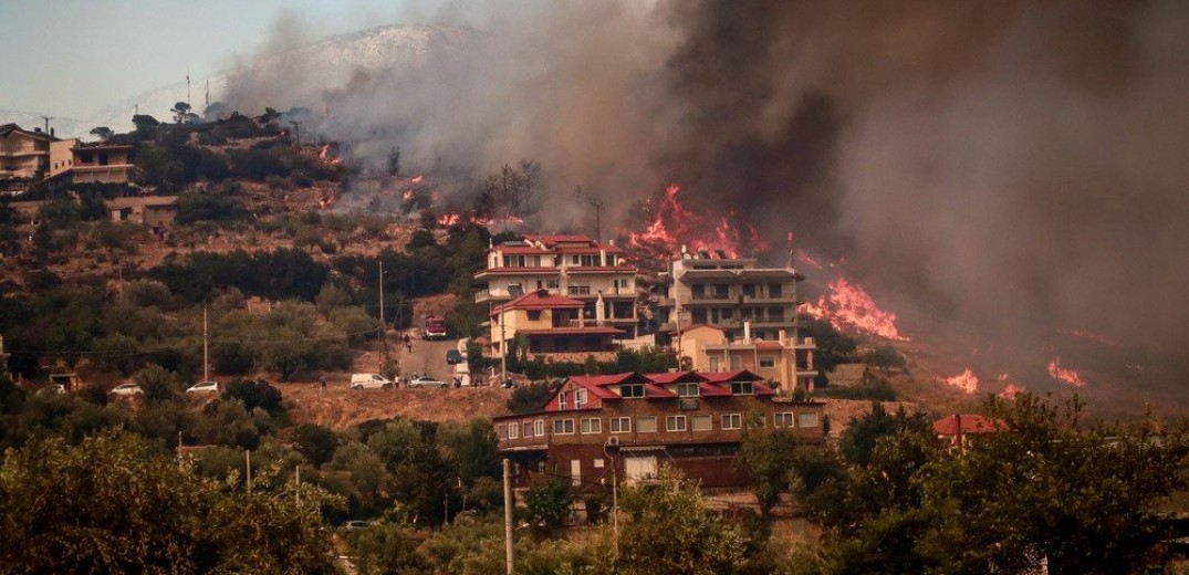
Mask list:
[[[132,435],[10,451],[0,523],[17,573],[335,573],[315,506],[224,489]]]

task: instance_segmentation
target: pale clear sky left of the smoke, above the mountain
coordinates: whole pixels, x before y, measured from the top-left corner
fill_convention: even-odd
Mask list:
[[[0,109],[86,119],[125,97],[205,77],[250,53],[291,11],[319,34],[411,24],[433,1],[0,0]],[[413,19],[413,21],[410,21]]]

